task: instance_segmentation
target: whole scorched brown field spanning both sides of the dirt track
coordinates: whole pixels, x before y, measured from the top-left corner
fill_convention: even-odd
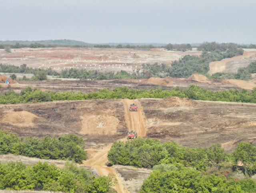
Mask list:
[[[132,112],[132,117],[125,120],[127,110],[124,106],[126,108],[132,100],[124,101],[0,105],[0,120],[4,121],[1,129],[16,132],[20,136],[35,137],[75,133],[84,138],[86,148],[94,150],[125,138],[129,129],[138,127],[136,121],[145,122],[146,137],[172,140],[184,146],[208,147],[221,143],[226,151],[232,151],[237,142],[256,143],[256,104],[194,101],[178,97],[140,99],[143,112]],[[23,111],[14,112],[14,108]],[[24,112],[37,117],[32,121],[33,124],[21,127],[13,124],[12,119],[9,122],[6,119],[9,116],[17,117],[15,113]]]

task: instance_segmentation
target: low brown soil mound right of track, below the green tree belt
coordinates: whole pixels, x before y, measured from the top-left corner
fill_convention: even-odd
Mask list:
[[[168,97],[160,100],[156,104],[156,108],[171,108],[171,107],[188,107],[188,106],[197,106],[197,102],[188,98],[179,98],[179,97]]]

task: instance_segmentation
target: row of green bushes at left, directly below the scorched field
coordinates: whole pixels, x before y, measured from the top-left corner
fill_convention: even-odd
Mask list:
[[[74,135],[61,135],[58,138],[46,136],[42,139],[19,138],[17,134],[0,130],[0,154],[15,154],[52,160],[72,160],[82,163],[87,159],[84,141]]]

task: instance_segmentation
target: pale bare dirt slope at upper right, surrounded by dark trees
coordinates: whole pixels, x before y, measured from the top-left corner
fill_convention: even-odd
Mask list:
[[[217,72],[237,73],[240,67],[247,67],[252,61],[256,60],[256,51],[244,51],[243,55],[223,59],[221,61],[211,62],[209,64],[210,75]]]

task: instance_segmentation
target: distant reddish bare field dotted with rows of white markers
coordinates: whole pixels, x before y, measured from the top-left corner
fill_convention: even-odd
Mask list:
[[[22,48],[12,49],[12,53],[0,49],[0,63],[20,66],[27,64],[33,68],[97,69],[102,71],[132,72],[141,68],[142,63],[171,64],[185,55],[201,54],[192,50],[185,52],[165,49],[118,49],[118,48]]]

